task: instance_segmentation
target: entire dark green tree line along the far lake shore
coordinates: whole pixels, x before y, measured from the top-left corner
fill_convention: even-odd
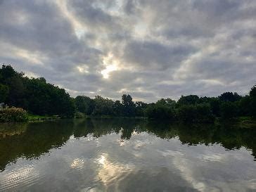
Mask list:
[[[65,89],[47,83],[43,77],[25,77],[23,72],[15,71],[11,65],[2,65],[0,103],[23,108],[34,115],[108,115],[213,122],[216,117],[256,117],[256,87],[252,87],[246,96],[225,92],[217,97],[181,96],[178,101],[161,98],[155,103],[134,102],[129,94],[123,94],[121,101],[113,101],[102,96],[72,98]]]

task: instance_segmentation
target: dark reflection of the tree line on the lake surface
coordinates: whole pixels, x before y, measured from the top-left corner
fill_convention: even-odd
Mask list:
[[[123,141],[133,134],[147,132],[161,139],[178,138],[181,143],[206,146],[219,143],[228,150],[248,148],[256,158],[255,129],[241,129],[231,124],[170,124],[139,119],[92,118],[58,120],[29,124],[0,125],[0,170],[20,157],[31,159],[49,153],[51,148],[65,145],[74,136],[76,139],[89,135],[98,138],[107,134],[120,134]]]

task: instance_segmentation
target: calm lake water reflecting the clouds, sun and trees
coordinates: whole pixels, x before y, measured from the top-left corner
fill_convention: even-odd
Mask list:
[[[144,120],[0,125],[0,191],[256,191],[256,130]]]

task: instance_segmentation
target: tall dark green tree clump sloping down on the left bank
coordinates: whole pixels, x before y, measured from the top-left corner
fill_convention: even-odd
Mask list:
[[[47,83],[43,77],[23,76],[23,72],[16,72],[11,65],[0,69],[0,83],[9,90],[7,105],[24,108],[35,115],[74,116],[75,105],[65,89]]]

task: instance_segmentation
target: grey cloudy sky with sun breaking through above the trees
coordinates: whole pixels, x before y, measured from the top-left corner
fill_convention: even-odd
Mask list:
[[[255,0],[0,0],[0,62],[71,96],[247,94]]]

